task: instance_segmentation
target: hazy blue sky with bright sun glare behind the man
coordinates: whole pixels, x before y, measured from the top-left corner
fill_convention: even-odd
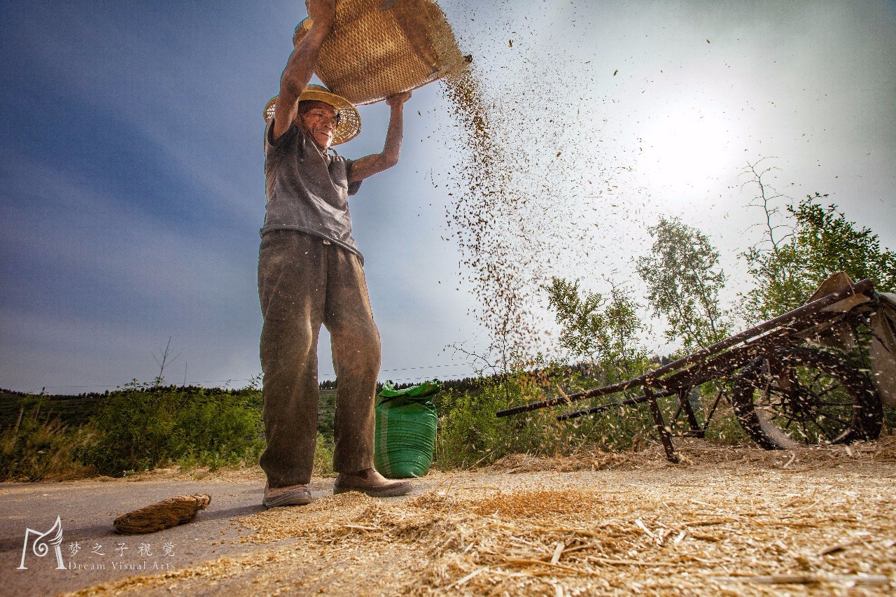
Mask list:
[[[560,172],[571,186],[551,201],[589,230],[574,246],[547,230],[556,264],[539,276],[637,291],[631,259],[668,213],[711,234],[733,297],[758,221],[741,172],[761,158],[782,192],[830,193],[896,246],[896,3],[442,4],[515,123],[506,143],[574,156],[518,173]],[[0,5],[0,387],[148,381],[169,336],[171,381],[259,372],[261,111],[304,16],[273,0]],[[351,205],[383,379],[468,375],[450,346],[487,343],[444,240],[463,149],[440,84],[414,92],[401,163]],[[535,124],[546,109],[556,129]],[[340,153],[379,151],[387,113],[362,107]],[[585,193],[586,179],[606,190]]]

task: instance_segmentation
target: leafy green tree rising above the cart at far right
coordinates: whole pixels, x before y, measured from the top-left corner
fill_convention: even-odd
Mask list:
[[[871,278],[880,290],[896,288],[896,253],[882,249],[870,229],[857,228],[837,206],[818,200],[828,195],[806,195],[788,205],[793,232],[774,238],[769,230],[762,243],[744,253],[756,287],[744,296],[744,310],[752,321],[771,319],[806,303],[831,274],[845,271],[855,280]]]

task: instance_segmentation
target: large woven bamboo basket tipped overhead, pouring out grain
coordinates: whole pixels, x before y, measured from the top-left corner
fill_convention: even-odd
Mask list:
[[[460,70],[467,62],[432,0],[337,0],[314,74],[353,104],[372,104]],[[311,29],[298,24],[293,44]]]

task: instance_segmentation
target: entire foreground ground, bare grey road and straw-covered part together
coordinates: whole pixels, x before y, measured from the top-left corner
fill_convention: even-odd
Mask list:
[[[264,511],[257,471],[190,480],[0,485],[4,593],[892,594],[896,441],[797,453],[681,442],[637,454],[513,456],[430,473],[409,497]],[[168,478],[166,478],[168,476]],[[194,523],[112,532],[116,515],[209,493]],[[25,527],[60,516],[56,556]],[[78,550],[73,553],[73,544]],[[125,549],[121,549],[124,544]],[[105,553],[99,556],[92,553]],[[151,552],[144,553],[143,552]],[[103,564],[103,567],[99,567]],[[136,568],[136,569],[134,569]]]

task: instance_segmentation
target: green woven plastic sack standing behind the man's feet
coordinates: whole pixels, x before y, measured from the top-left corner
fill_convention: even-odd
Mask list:
[[[436,380],[396,390],[386,382],[376,406],[374,465],[390,479],[422,477],[429,472],[435,448]]]

